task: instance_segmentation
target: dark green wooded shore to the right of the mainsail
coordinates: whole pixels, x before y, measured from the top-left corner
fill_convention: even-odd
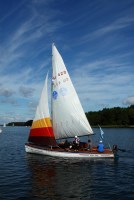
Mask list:
[[[87,112],[91,126],[134,126],[134,105],[127,108],[104,108],[101,111]]]

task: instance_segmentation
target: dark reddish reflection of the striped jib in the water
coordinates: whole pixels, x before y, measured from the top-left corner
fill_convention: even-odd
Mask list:
[[[60,195],[55,190],[55,163],[51,161],[48,163],[48,159],[44,159],[42,156],[27,155],[27,163],[29,170],[32,173],[32,193],[33,197],[40,198],[53,198],[61,199]]]

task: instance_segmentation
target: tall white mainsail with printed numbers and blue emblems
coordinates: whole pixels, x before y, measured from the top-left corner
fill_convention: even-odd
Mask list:
[[[93,134],[64,61],[54,44],[52,69],[52,122],[55,138]]]

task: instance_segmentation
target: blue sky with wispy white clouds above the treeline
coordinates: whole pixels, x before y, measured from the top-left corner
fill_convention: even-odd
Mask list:
[[[85,112],[134,104],[134,0],[1,0],[0,124],[34,118],[53,42]]]

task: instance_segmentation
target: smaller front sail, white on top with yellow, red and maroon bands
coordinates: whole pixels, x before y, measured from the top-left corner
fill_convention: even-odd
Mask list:
[[[57,146],[48,108],[47,79],[48,76],[37,106],[28,142],[41,146]]]

